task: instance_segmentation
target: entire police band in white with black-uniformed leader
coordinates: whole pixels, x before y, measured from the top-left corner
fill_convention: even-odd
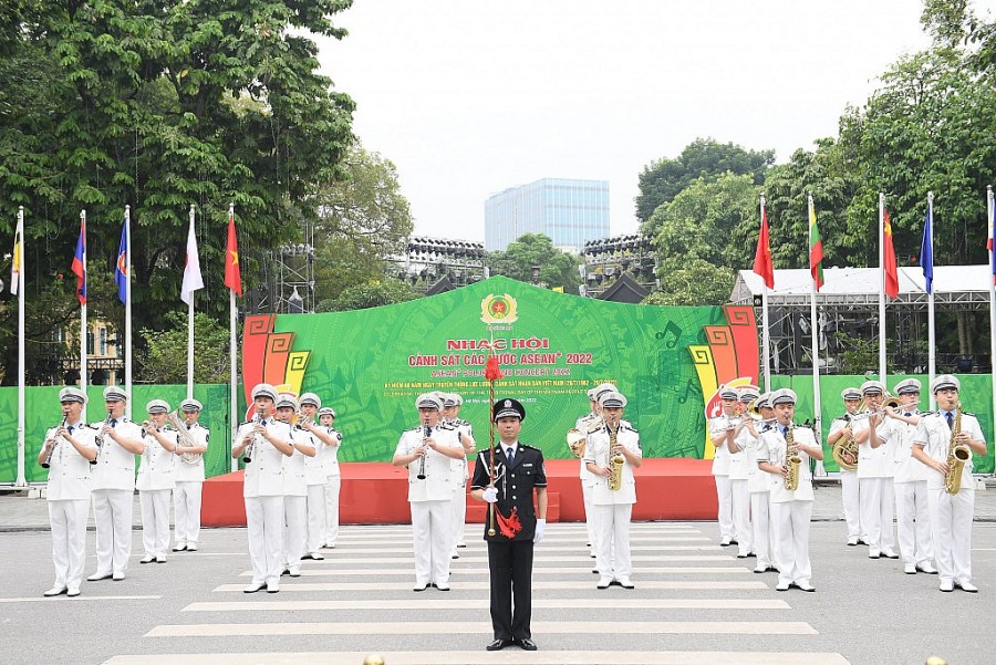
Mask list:
[[[937,574],[943,592],[975,593],[972,458],[986,454],[986,443],[976,417],[962,409],[959,387],[952,375],[934,378],[931,392],[938,409],[933,413],[919,411],[915,378],[899,382],[896,397],[878,381],[845,388],[844,413],[832,422],[828,444],[840,466],[847,544],[867,545],[870,559],[902,557],[906,574]],[[239,427],[231,450],[246,463],[252,582],[243,591],[276,593],[282,574],[299,576],[302,559],[323,559],[320,550],[335,547],[342,435],[334,428],[335,412],[322,407],[313,393],[298,401],[259,384],[251,396],[255,416]],[[623,418],[626,398],[614,385],[601,384],[588,397],[591,411],[578,418],[567,439],[580,460],[592,572],[599,575],[598,589],[634,589],[630,522],[636,502],[633,469],[643,461],[640,435]],[[796,424],[791,389],[760,394],[756,386],[724,386],[719,398],[722,413],[708,427],[720,544],[737,545],[740,559],[755,558],[755,573],[777,572],[776,590],[813,592],[812,470],[823,459],[822,447],[810,427]],[[63,420],[46,433],[39,451],[39,464],[49,469],[55,567],[46,596],[80,594],[91,502],[97,564],[86,580],[124,579],[136,488],[141,563],[167,560],[170,492],[173,551],[197,550],[209,439],[197,422],[201,404],[185,399],[170,413],[169,404],[153,399],[148,418],[138,425],[124,417],[127,395],[120,387],[107,387],[104,401],[106,418],[87,425],[81,419],[86,396],[63,388]],[[547,511],[542,453],[519,441],[526,408],[518,401],[496,401],[491,416],[500,445],[481,450],[470,424],[459,418],[461,404],[456,394],[419,395],[419,425],[402,434],[392,459],[408,471],[414,591],[449,590],[450,562],[466,547],[469,481],[470,496],[488,507],[495,638],[487,648],[516,644],[531,651],[537,648],[530,632],[533,547],[543,537]],[[477,456],[473,479],[470,455]]]

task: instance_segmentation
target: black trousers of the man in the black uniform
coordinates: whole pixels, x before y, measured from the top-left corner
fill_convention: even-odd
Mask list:
[[[495,640],[531,640],[532,539],[488,541],[488,568]]]

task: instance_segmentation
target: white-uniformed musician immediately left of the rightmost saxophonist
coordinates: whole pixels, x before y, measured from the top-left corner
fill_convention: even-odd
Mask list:
[[[931,536],[931,512],[927,507],[927,476],[930,469],[913,457],[913,435],[920,425],[920,382],[906,378],[895,385],[900,407],[885,407],[886,417],[894,420],[890,428],[895,457],[892,489],[895,492],[895,530],[903,557],[903,572],[936,574],[933,565],[934,539]]]

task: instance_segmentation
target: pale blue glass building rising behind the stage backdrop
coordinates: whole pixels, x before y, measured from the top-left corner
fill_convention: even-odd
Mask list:
[[[577,253],[609,236],[609,181],[543,178],[485,202],[485,249],[505,250],[525,233],[543,233]]]

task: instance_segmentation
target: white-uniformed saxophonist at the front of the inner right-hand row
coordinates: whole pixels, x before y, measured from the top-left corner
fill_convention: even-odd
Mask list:
[[[823,449],[817,444],[809,427],[796,426],[796,393],[782,388],[771,393],[777,422],[761,433],[761,447],[757,466],[770,477],[770,515],[775,523],[775,561],[778,563],[777,591],[796,586],[802,591],[816,591],[810,584],[812,567],[809,561],[809,528],[812,518],[812,476],[809,459],[823,459]],[[791,432],[792,443],[787,443]],[[797,457],[799,464],[790,465]],[[797,466],[798,486],[786,488],[790,466]]]

